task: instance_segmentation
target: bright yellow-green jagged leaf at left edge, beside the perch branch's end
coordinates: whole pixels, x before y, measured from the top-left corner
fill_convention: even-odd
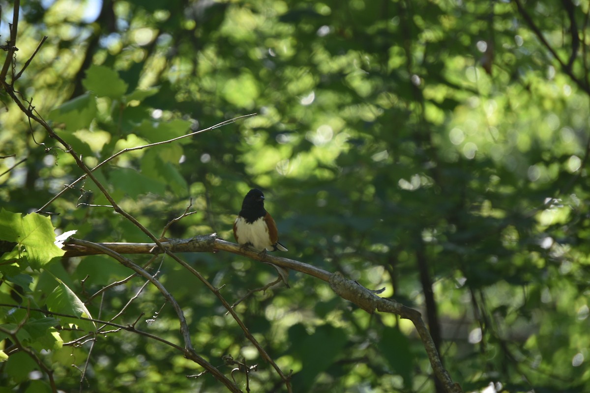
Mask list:
[[[25,246],[27,260],[33,269],[40,269],[53,257],[64,255],[64,251],[54,244],[55,232],[51,219],[41,214],[22,216],[1,209],[0,239]]]

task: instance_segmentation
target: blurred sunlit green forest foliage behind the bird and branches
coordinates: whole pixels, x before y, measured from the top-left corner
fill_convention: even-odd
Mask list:
[[[2,5],[4,41],[12,7]],[[21,4],[17,70],[48,39],[16,88],[91,167],[122,148],[257,113],[123,154],[96,175],[156,235],[192,199],[197,213],[169,237],[232,240],[244,194],[259,187],[284,256],[384,286],[383,296],[419,309],[464,391],[587,392],[589,8],[587,0],[32,0]],[[1,99],[0,156],[14,154],[0,160],[1,206],[34,212],[82,172]],[[107,204],[90,181],[74,188],[44,209],[58,213],[59,231],[149,241],[108,207],[77,206]],[[275,275],[228,253],[182,257],[230,302]],[[283,390],[215,296],[172,260],[160,263],[199,354],[227,375],[223,355],[258,364],[250,388]],[[21,280],[0,270],[4,303],[43,305],[60,278],[93,316],[110,319],[143,285],[135,278],[91,299],[130,274],[104,256],[20,266]],[[300,273],[291,272],[291,287],[256,293],[237,311],[283,371],[293,369],[294,391],[436,389],[409,321],[369,316]],[[152,286],[115,322],[141,313],[138,328],[180,343],[175,314]],[[8,308],[0,316],[27,318]],[[65,343],[80,336],[59,334]],[[225,391],[210,375],[186,378],[202,369],[129,332],[97,336],[92,349],[47,348],[34,351],[65,392]],[[38,369],[11,355],[0,389],[47,390]],[[237,382],[245,390],[243,375]]]

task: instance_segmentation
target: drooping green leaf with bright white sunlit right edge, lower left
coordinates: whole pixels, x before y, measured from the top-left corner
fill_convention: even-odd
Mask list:
[[[58,312],[62,314],[72,315],[73,317],[83,317],[83,318],[92,318],[90,316],[90,312],[84,306],[84,303],[76,293],[74,293],[67,285],[63,283],[60,279],[57,279],[58,286],[54,289],[53,292],[47,297],[47,308],[49,311]],[[68,318],[65,316],[56,316],[56,318],[60,319],[64,323],[73,324],[78,326],[80,329],[86,331],[94,331],[96,330],[96,325],[94,322],[91,321],[84,321],[83,319],[78,318]]]

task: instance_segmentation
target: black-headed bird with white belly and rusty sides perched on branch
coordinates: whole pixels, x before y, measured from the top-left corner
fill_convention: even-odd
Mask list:
[[[277,224],[264,209],[264,194],[258,189],[251,189],[244,197],[234,221],[234,237],[242,247],[250,246],[265,255],[267,250],[288,251],[278,242]]]

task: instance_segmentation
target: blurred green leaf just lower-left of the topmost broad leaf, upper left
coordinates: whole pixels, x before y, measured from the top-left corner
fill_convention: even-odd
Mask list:
[[[49,113],[53,123],[64,123],[65,130],[70,132],[90,128],[94,117],[96,117],[96,97],[90,93],[79,95]]]

